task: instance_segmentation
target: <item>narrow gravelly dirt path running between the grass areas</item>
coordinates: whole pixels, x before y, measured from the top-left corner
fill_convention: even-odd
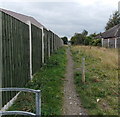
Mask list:
[[[74,85],[74,63],[71,56],[70,48],[67,49],[67,73],[64,82],[64,105],[63,115],[87,115],[82,108],[80,100],[77,96]]]

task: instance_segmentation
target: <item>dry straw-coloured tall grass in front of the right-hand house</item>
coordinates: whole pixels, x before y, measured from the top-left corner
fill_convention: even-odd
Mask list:
[[[118,68],[118,50],[100,48],[94,46],[75,46],[73,48],[75,51],[84,52],[87,56],[92,56],[101,61],[101,65],[105,68]]]

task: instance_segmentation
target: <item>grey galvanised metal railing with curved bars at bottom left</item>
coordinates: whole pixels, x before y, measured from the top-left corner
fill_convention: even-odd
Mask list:
[[[36,113],[26,112],[26,111],[0,111],[0,116],[2,115],[27,115],[27,116],[41,116],[41,91],[28,89],[28,88],[0,88],[0,92],[3,91],[20,91],[20,92],[31,92],[36,95]]]

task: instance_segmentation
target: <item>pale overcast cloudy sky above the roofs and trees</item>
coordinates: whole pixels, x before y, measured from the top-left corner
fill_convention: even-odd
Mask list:
[[[84,29],[104,32],[120,0],[0,0],[0,8],[32,16],[60,37],[71,38]]]

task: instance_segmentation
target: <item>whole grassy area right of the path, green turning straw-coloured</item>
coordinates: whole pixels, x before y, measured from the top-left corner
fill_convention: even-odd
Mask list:
[[[75,61],[75,84],[89,115],[118,115],[118,52],[89,46],[71,47]],[[85,58],[86,82],[81,82]]]

